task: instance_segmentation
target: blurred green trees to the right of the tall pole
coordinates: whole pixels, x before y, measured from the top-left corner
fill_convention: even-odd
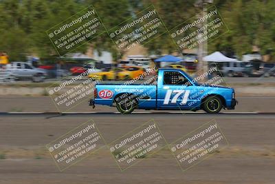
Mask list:
[[[241,54],[252,52],[252,45],[259,46],[261,54],[275,55],[275,1],[234,0],[226,1],[219,12],[230,31],[210,43],[210,50]],[[271,52],[270,52],[271,51]]]

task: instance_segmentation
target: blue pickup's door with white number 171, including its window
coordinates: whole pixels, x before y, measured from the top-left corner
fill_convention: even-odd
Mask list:
[[[192,108],[195,104],[190,96],[197,91],[192,82],[181,72],[162,72],[163,80],[157,83],[157,108]]]

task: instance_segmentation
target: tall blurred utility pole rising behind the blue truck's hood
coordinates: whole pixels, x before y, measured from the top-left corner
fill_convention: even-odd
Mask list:
[[[198,17],[202,18],[205,17],[207,14],[207,4],[212,3],[213,0],[197,0],[195,3],[195,7],[199,9]],[[202,11],[201,11],[202,10]],[[205,28],[207,25],[207,19],[203,21],[203,23],[198,24],[199,29],[199,38],[203,39],[203,37],[207,37],[207,30],[203,30],[201,28]],[[205,32],[206,31],[206,32]],[[197,56],[198,56],[198,64],[197,64],[197,75],[201,76],[203,73],[208,71],[208,63],[203,62],[203,57],[206,57],[208,54],[208,39],[204,41],[199,41],[198,43],[198,50],[197,50]],[[206,79],[201,79],[198,81],[200,83],[206,82]]]

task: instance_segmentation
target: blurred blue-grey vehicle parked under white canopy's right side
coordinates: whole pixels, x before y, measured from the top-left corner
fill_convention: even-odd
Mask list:
[[[221,70],[225,76],[250,76],[252,68],[245,62],[224,62]]]

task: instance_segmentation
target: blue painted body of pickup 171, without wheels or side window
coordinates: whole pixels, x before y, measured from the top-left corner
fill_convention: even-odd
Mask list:
[[[167,85],[164,83],[164,72],[179,72],[189,81],[189,85]],[[98,93],[110,90],[113,96],[109,99],[100,98]],[[208,96],[218,96],[223,108],[234,109],[234,89],[220,85],[199,84],[188,74],[178,69],[159,69],[155,85],[139,84],[98,84],[96,85],[96,98],[89,101],[89,105],[115,104],[115,97],[122,94],[133,94],[137,98],[135,108],[144,110],[201,110],[203,100]]]

